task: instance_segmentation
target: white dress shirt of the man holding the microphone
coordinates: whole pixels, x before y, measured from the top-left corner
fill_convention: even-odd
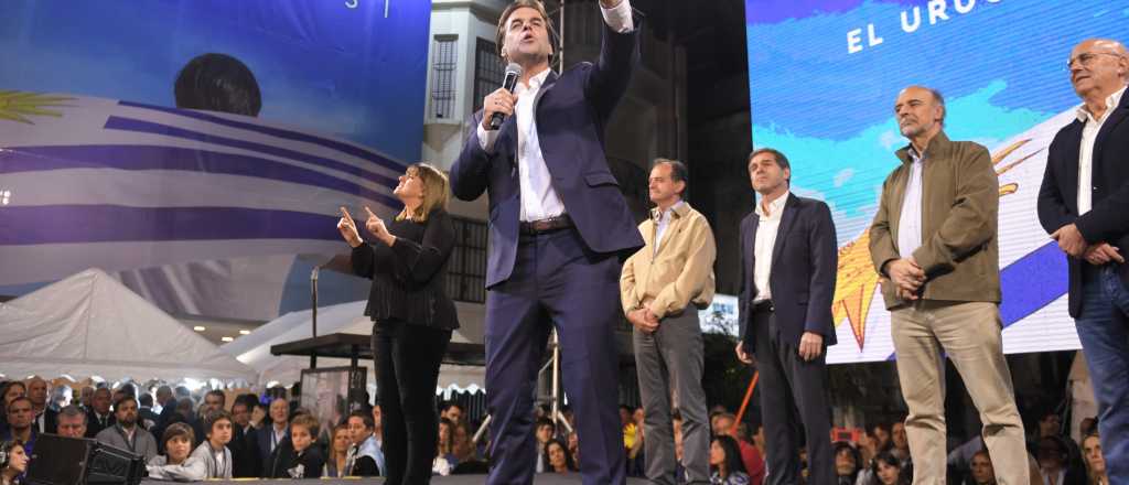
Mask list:
[[[631,3],[622,0],[612,8],[603,8],[604,21],[612,30],[627,33],[634,29],[631,19]],[[541,86],[549,77],[549,70],[530,78],[528,85],[518,82],[514,89],[517,96],[517,106],[514,107],[514,115],[517,116],[517,176],[522,191],[522,210],[518,215],[522,221],[539,221],[554,218],[564,213],[564,203],[552,185],[552,175],[545,165],[545,157],[541,152],[541,141],[537,136],[537,120],[534,116],[537,100],[540,99]],[[499,130],[487,131],[479,123],[479,146],[487,153],[493,153],[493,144],[498,139]]]

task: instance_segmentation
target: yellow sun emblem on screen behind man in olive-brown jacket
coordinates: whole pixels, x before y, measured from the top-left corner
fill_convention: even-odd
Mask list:
[[[1030,141],[1030,139],[1019,140],[992,155],[991,162],[997,167],[996,175],[1003,175],[1042,151],[1042,149],[1035,150],[1016,161],[999,166]],[[1019,184],[1016,183],[1000,185],[999,196],[1014,194],[1018,189]],[[847,319],[859,350],[864,345],[866,318],[870,314],[870,302],[874,300],[874,292],[878,290],[879,280],[878,273],[874,271],[874,263],[870,262],[870,230],[867,229],[858,239],[839,248],[839,274],[835,279],[835,296],[831,303],[833,321],[839,325],[844,318]]]

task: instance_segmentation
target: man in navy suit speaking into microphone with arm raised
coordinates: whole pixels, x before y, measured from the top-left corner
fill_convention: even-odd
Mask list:
[[[599,3],[606,27],[598,61],[560,74],[549,68],[551,24],[541,2],[506,8],[498,45],[505,60],[522,65],[522,77],[515,92],[485,97],[450,169],[455,196],[490,196],[489,484],[533,480],[533,386],[552,326],[584,483],[625,480],[614,326],[621,257],[642,247],[642,238],[607,168],[604,129],[638,60],[639,30],[629,0]],[[490,130],[496,113],[506,120]]]

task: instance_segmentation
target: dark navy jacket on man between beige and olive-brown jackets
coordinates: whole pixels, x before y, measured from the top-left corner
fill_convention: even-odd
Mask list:
[[[756,334],[749,325],[752,302],[760,292],[753,284],[753,248],[759,224],[755,211],[741,221],[741,294],[737,300],[741,309],[737,317],[745,352],[753,352]],[[838,267],[835,226],[828,204],[789,193],[772,246],[769,274],[773,317],[786,341],[799,346],[804,332],[815,332],[823,335],[825,345],[835,344],[831,299]]]

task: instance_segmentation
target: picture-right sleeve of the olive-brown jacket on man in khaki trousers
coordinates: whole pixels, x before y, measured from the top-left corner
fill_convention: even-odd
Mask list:
[[[988,149],[977,146],[968,157],[960,157],[956,203],[937,232],[921,241],[913,252],[926,277],[953,268],[957,259],[978,250],[996,237],[999,212],[999,177]]]

